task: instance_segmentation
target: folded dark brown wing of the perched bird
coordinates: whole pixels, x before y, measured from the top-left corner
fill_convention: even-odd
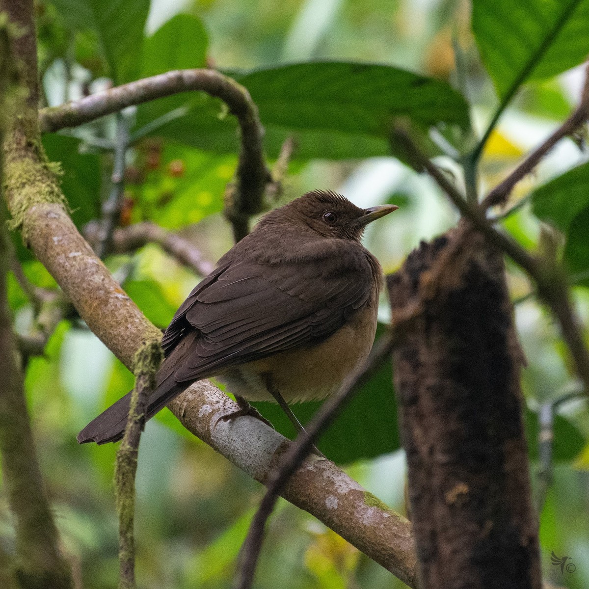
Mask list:
[[[346,254],[345,263],[294,260],[221,267],[198,284],[166,330],[166,352],[193,330],[198,337],[180,363],[164,363],[161,376],[174,370],[176,382],[203,378],[325,339],[365,305],[374,287],[365,250]]]

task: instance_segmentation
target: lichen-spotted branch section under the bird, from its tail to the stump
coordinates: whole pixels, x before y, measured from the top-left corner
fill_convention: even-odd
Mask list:
[[[297,452],[295,444],[300,447],[300,440],[289,442],[259,419],[222,419],[236,411],[237,404],[206,380],[191,385],[168,407],[188,431],[266,485],[277,461]],[[403,583],[416,587],[411,524],[333,462],[310,456],[280,495],[314,515]]]

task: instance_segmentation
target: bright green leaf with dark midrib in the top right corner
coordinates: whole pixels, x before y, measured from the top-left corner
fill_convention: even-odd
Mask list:
[[[589,0],[473,0],[472,30],[499,97],[589,54]]]

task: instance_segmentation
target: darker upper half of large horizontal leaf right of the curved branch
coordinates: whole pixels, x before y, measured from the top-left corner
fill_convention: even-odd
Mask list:
[[[264,124],[388,137],[394,117],[468,128],[468,106],[446,82],[388,65],[290,64],[236,75]]]

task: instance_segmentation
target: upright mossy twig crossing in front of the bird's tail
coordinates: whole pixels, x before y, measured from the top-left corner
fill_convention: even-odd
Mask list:
[[[163,357],[157,340],[145,342],[135,356],[135,387],[123,441],[117,451],[115,486],[118,512],[119,589],[135,588],[135,472],[147,399],[155,386],[155,373]]]

